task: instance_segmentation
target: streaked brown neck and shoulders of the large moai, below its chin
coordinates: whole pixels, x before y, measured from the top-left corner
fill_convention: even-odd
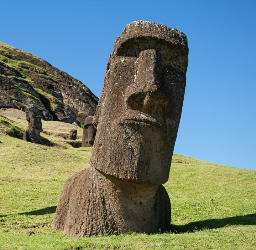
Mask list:
[[[120,181],[90,166],[66,181],[53,230],[73,237],[152,233],[168,227],[170,217],[170,199],[162,185]]]

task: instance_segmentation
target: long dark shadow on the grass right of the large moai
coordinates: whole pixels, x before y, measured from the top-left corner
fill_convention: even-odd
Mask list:
[[[223,219],[210,219],[191,222],[185,225],[171,225],[168,232],[184,233],[196,232],[213,228],[221,228],[229,225],[256,225],[256,214],[227,217]]]

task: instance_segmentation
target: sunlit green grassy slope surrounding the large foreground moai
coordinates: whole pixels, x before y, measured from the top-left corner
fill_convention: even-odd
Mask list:
[[[21,127],[23,115],[0,112]],[[48,134],[69,124],[43,122]],[[81,129],[78,131],[81,136]],[[91,148],[24,142],[0,133],[0,250],[7,249],[256,249],[256,171],[174,155],[164,185],[172,202],[172,227],[159,234],[70,238],[51,230],[61,188],[88,167]],[[182,163],[178,163],[182,162]],[[28,236],[33,230],[35,235]]]

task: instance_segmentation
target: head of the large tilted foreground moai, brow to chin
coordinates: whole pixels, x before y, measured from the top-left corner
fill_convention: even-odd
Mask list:
[[[187,63],[180,31],[144,21],[125,27],[107,64],[91,166],[132,182],[168,180]]]

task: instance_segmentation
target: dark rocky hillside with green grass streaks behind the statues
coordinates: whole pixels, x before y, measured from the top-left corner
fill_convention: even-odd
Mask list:
[[[0,108],[24,110],[31,102],[44,120],[80,124],[94,115],[98,98],[45,60],[0,42]]]

